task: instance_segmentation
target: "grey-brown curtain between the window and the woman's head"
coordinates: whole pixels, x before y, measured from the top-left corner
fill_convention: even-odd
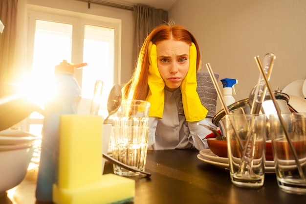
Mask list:
[[[137,4],[134,5],[134,63],[138,57],[140,48],[147,37],[157,25],[168,23],[168,11],[155,9],[153,7]]]

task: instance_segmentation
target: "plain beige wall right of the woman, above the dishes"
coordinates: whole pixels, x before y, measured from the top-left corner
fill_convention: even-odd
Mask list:
[[[247,98],[258,82],[257,55],[261,60],[265,53],[276,55],[270,78],[273,90],[306,79],[305,11],[305,0],[177,0],[169,17],[196,36],[202,70],[210,63],[219,79],[239,80],[238,101]]]

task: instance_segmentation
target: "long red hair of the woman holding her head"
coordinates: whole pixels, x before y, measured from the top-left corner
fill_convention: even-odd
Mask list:
[[[123,98],[145,100],[148,92],[148,74],[149,74],[149,43],[157,45],[165,40],[182,41],[191,45],[194,43],[197,47],[197,70],[200,67],[200,50],[194,35],[181,25],[163,24],[155,27],[145,39],[137,60],[136,68],[132,74],[131,80],[123,87]]]

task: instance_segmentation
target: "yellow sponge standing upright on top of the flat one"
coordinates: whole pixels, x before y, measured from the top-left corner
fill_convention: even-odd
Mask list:
[[[102,116],[60,116],[59,188],[76,188],[101,179],[102,124]]]

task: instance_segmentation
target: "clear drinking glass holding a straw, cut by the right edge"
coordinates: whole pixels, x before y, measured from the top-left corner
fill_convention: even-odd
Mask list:
[[[269,120],[277,183],[286,192],[306,194],[306,113],[273,114]]]

